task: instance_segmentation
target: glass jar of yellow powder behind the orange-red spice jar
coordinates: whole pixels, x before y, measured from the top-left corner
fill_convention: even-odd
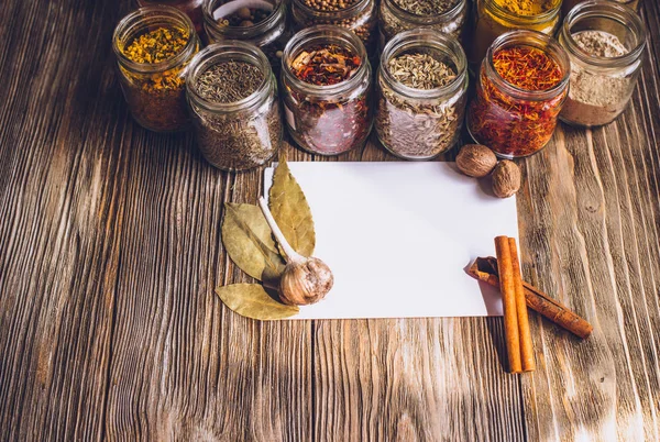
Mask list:
[[[504,0],[476,0],[476,23],[470,51],[470,64],[479,65],[491,44],[499,35],[516,30],[529,30],[554,35],[559,27],[561,0],[541,0],[548,4],[546,12],[520,15],[502,7]]]

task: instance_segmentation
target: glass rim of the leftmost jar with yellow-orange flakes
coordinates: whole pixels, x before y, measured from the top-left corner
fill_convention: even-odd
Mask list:
[[[186,31],[188,31],[188,42],[186,42],[186,45],[174,57],[164,59],[160,63],[138,63],[127,57],[120,48],[120,42],[128,36],[132,36],[132,34],[136,32],[135,27],[138,27],[143,20],[148,18],[168,19],[173,22],[178,21],[177,24],[185,26]],[[178,9],[161,4],[148,5],[136,9],[119,21],[112,34],[112,48],[119,63],[125,67],[141,74],[154,74],[172,69],[189,58],[197,48],[197,32],[195,31],[195,25],[190,18]]]

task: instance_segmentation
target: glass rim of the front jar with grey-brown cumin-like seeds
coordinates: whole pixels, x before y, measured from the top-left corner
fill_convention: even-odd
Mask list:
[[[254,60],[252,64],[257,66],[264,74],[258,87],[248,97],[230,103],[218,103],[201,97],[195,89],[194,82],[208,67],[215,65],[212,62],[217,57],[228,57],[232,54],[242,54]],[[239,109],[250,109],[257,106],[261,98],[268,91],[272,76],[271,63],[258,47],[238,40],[227,40],[210,44],[195,55],[190,65],[188,65],[188,74],[186,75],[186,96],[189,100],[209,111],[231,112]]]

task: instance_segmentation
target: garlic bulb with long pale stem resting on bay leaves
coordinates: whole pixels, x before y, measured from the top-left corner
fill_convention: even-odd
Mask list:
[[[263,197],[260,198],[258,206],[273,231],[273,235],[275,235],[275,240],[277,240],[286,255],[286,267],[279,280],[282,302],[292,306],[306,306],[323,299],[334,283],[330,267],[319,258],[305,257],[297,253],[284,237]]]

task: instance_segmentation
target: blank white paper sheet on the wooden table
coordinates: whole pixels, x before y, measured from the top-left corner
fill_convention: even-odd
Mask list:
[[[518,237],[515,197],[486,195],[453,163],[289,163],[315,219],[315,256],[334,275],[295,319],[502,316],[499,294],[465,273]],[[265,172],[265,195],[273,168]]]

